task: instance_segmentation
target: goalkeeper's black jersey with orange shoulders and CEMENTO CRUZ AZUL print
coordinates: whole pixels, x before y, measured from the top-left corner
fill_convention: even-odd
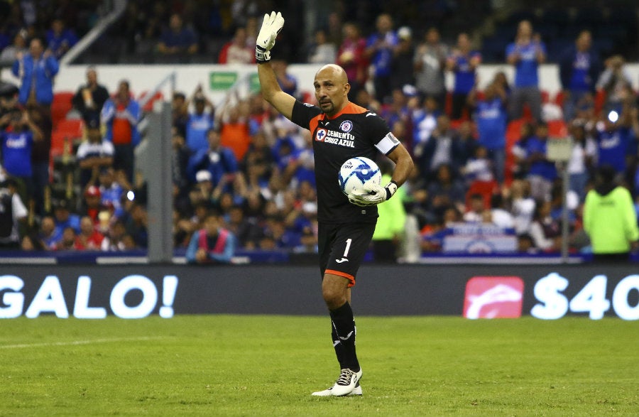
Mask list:
[[[299,101],[293,106],[291,121],[309,129],[312,134],[317,220],[326,223],[376,222],[377,207],[351,204],[339,188],[337,175],[347,159],[366,156],[374,161],[377,152],[388,155],[399,145],[386,121],[353,103],[329,119],[320,107]]]

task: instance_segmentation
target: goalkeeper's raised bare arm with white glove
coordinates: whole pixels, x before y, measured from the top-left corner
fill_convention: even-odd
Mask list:
[[[271,67],[271,49],[275,38],[284,26],[284,18],[280,12],[265,14],[255,46],[255,60],[258,63],[258,76],[262,88],[262,96],[271,103],[278,112],[290,119],[293,114],[295,97],[286,94],[278,84],[273,67]]]

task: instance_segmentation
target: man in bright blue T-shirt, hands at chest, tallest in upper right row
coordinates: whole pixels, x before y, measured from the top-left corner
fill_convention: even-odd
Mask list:
[[[523,115],[528,104],[532,118],[541,121],[541,91],[539,89],[539,65],[545,63],[546,46],[537,34],[532,33],[529,21],[521,21],[515,42],[506,47],[506,61],[515,65],[515,83],[510,96],[510,118]]]

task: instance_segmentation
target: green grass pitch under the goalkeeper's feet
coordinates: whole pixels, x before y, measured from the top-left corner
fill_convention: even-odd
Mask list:
[[[638,416],[639,323],[359,317],[360,397],[327,317],[1,321],[0,416]]]

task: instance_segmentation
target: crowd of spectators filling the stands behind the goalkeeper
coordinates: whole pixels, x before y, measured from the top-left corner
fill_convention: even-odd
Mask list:
[[[142,140],[138,124],[144,110],[131,93],[135,86],[123,80],[110,94],[99,84],[99,68],[89,67],[71,112],[83,121],[84,140],[63,155],[75,160],[62,164],[71,166],[70,172],[62,169],[65,175],[54,176],[66,185],[79,184],[80,193],[75,195],[71,186],[53,192],[49,169],[60,172],[59,158],[53,163],[50,155],[53,78],[58,59],[77,41],[75,33],[88,30],[95,12],[78,5],[84,3],[60,1],[74,13],[62,8],[40,16],[35,8],[31,16],[23,3],[38,4],[13,2],[0,37],[1,57],[11,60],[13,74],[22,80],[16,90],[3,91],[0,102],[0,204],[10,207],[0,213],[0,247],[146,248],[146,183],[135,175],[133,156]],[[211,7],[208,13],[195,13],[197,1],[129,2],[116,27],[130,48],[151,39],[165,57],[195,53],[202,48],[198,33],[217,33],[226,42],[209,60],[253,63],[258,3],[232,1],[228,10]],[[460,31],[448,44],[436,25],[419,26],[404,18],[398,27],[388,13],[377,13],[374,27],[366,31],[346,20],[347,2],[336,3],[342,4],[342,13],[327,16],[305,59],[342,65],[351,82],[351,101],[381,114],[415,160],[412,177],[396,197],[403,204],[383,213],[374,244],[391,242],[395,256],[436,253],[450,224],[466,222],[495,224],[516,234],[523,253],[557,252],[565,198],[569,248],[587,251],[584,198],[596,169],[604,165],[614,168],[618,182],[639,201],[637,96],[623,56],[601,55],[591,31],[579,31],[559,54],[562,90],[557,97],[540,89],[538,67],[548,62],[547,45],[528,20],[518,23],[504,51],[514,79],[496,72],[480,90],[476,69],[482,54],[473,47],[478,40],[471,33]],[[69,16],[82,18],[70,21]],[[292,55],[275,58],[283,90],[312,102],[312,94],[288,73]],[[447,72],[454,76],[452,90],[444,82]],[[277,114],[260,94],[215,108],[198,87],[174,92],[172,103],[175,247],[187,249],[213,215],[215,224],[234,236],[236,249],[315,251],[310,132]],[[574,141],[563,168],[547,158],[552,136]],[[385,170],[387,162],[378,162]],[[565,196],[560,168],[569,173]]]

